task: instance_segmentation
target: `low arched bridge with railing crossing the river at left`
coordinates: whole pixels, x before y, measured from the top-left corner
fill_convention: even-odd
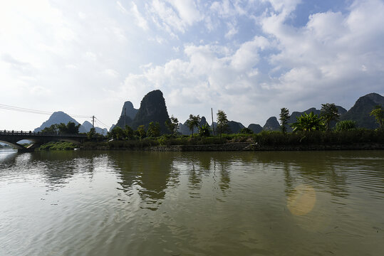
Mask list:
[[[26,139],[32,142],[31,145],[25,147],[19,144],[21,140]],[[48,142],[72,142],[74,144],[81,144],[87,139],[85,134],[55,134],[55,133],[41,133],[41,132],[23,132],[23,131],[0,131],[0,142],[14,146],[15,149],[21,151],[33,151],[42,144]]]

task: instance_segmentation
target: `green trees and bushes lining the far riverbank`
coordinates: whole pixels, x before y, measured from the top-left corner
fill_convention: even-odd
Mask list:
[[[165,122],[168,134],[160,134],[160,124],[150,122],[145,129],[145,125],[140,125],[133,130],[126,125],[123,128],[114,127],[104,137],[95,134],[95,129],[88,132],[89,142],[84,146],[107,146],[110,149],[144,149],[147,146],[158,145],[204,145],[204,144],[226,144],[234,142],[249,142],[262,146],[284,146],[284,145],[338,145],[354,143],[384,143],[384,112],[382,107],[376,106],[370,115],[375,117],[379,128],[375,130],[361,129],[356,127],[356,122],[351,120],[339,121],[340,114],[333,103],[323,104],[321,114],[302,114],[296,118],[296,122],[288,124],[290,118],[289,110],[281,108],[279,114],[280,131],[262,131],[258,134],[249,128],[243,128],[237,134],[227,134],[229,132],[227,114],[219,110],[216,114],[217,124],[214,129],[205,123],[200,125],[199,115],[190,114],[187,119],[187,127],[190,135],[182,135],[177,132],[179,121],[171,116]],[[331,123],[336,125],[331,128]],[[76,134],[79,125],[73,122],[68,124],[53,124],[51,127],[43,129],[42,132]],[[288,127],[292,127],[292,132],[287,132]],[[194,130],[197,128],[197,133]],[[107,142],[108,141],[108,142]],[[51,148],[59,147],[58,144],[49,145]],[[64,145],[68,148],[68,145]]]

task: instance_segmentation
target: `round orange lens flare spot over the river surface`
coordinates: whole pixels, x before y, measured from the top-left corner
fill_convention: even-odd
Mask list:
[[[316,203],[316,191],[308,185],[299,185],[287,198],[289,211],[294,215],[306,215]]]

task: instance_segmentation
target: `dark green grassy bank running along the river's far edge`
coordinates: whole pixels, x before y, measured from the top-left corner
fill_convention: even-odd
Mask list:
[[[384,144],[384,132],[381,130],[354,129],[350,131],[313,131],[295,132],[283,134],[282,132],[261,132],[259,134],[222,134],[222,137],[199,137],[194,135],[180,135],[172,137],[162,135],[161,137],[147,137],[140,139],[120,139],[110,142],[85,142],[81,144],[83,149],[111,149],[111,150],[142,150],[152,146],[200,146],[220,145],[248,142],[258,146],[329,146],[329,145],[352,145],[352,144]],[[49,142],[40,146],[39,150],[73,150],[78,145],[70,142]]]

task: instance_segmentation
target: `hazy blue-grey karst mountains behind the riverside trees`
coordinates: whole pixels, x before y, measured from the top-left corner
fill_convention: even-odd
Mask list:
[[[378,127],[378,124],[375,122],[374,117],[370,117],[369,113],[373,110],[375,105],[381,105],[384,107],[384,97],[377,93],[370,93],[368,95],[364,95],[356,101],[355,105],[351,107],[350,110],[346,110],[341,106],[338,107],[338,112],[341,114],[341,120],[353,120],[356,121],[358,127],[367,128],[367,129],[375,129]],[[316,108],[312,107],[303,112],[291,112],[291,117],[288,121],[289,124],[296,122],[296,117],[301,116],[304,113],[309,114],[313,112],[314,114],[320,114],[320,110],[316,110]],[[137,110],[133,107],[132,102],[126,101],[124,102],[123,109],[120,112],[120,117],[116,124],[113,124],[110,129],[118,126],[123,128],[125,125],[129,125],[133,129],[137,129],[138,126],[144,125],[145,128],[148,127],[150,122],[159,122],[160,130],[162,133],[167,133],[167,128],[165,127],[165,121],[169,119],[169,115],[167,112],[167,106],[165,105],[165,99],[160,90],[154,90],[152,92],[148,92],[145,97],[143,97],[140,108]],[[68,114],[64,112],[54,112],[51,117],[46,122],[41,124],[41,127],[35,129],[35,132],[39,132],[45,127],[50,127],[52,124],[60,124],[60,123],[68,123],[74,122],[78,124],[78,122],[70,117]],[[200,122],[200,126],[202,124],[208,123],[205,117],[202,117]],[[331,127],[334,126],[336,122],[331,123]],[[212,124],[210,125],[212,127]],[[240,122],[230,121],[228,123],[229,130],[228,133],[237,133],[244,125]],[[85,121],[81,124],[79,128],[79,132],[89,132],[92,124],[90,122]],[[217,127],[217,123],[214,122],[214,127]],[[265,131],[277,131],[280,129],[279,121],[276,117],[269,117],[266,120],[266,123],[263,127],[260,124],[249,124],[249,129],[251,129],[254,133],[259,133],[263,130]],[[287,126],[288,131],[291,131],[291,127]],[[107,129],[101,129],[99,127],[95,127],[96,132],[99,134],[107,134]],[[188,129],[186,122],[179,124],[179,132],[181,134],[189,135],[191,134],[190,129]],[[197,133],[197,129],[194,129],[194,133]]]

